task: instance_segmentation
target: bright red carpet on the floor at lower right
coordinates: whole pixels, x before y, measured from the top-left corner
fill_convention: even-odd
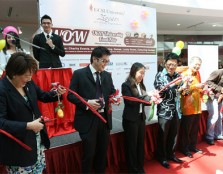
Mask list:
[[[170,169],[164,168],[154,159],[146,161],[145,171],[148,174],[223,174],[223,141],[215,141],[212,146],[202,142],[197,148],[202,149],[203,154],[193,154],[194,158],[177,152],[177,157],[184,163],[170,162]]]

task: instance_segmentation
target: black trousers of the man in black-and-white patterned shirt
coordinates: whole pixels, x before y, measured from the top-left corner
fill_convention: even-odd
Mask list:
[[[174,155],[180,120],[177,114],[171,119],[158,118],[157,158],[160,161],[167,160]]]

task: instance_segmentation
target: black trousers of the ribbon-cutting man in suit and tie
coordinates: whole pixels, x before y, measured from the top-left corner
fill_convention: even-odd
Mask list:
[[[90,130],[79,135],[83,146],[82,173],[93,173],[92,168],[94,173],[105,173],[110,136],[107,124],[96,117]]]

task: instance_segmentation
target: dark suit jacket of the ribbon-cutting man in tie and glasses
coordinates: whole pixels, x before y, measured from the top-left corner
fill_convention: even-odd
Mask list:
[[[101,86],[102,93],[105,100],[105,119],[109,129],[112,128],[112,117],[108,114],[108,100],[109,96],[115,93],[115,88],[111,78],[111,74],[103,71],[101,72]],[[86,101],[90,99],[95,99],[96,97],[96,83],[93,74],[89,66],[76,70],[73,73],[73,77],[70,83],[70,89],[77,92]],[[91,124],[97,117],[91,110],[86,110],[86,105],[84,105],[78,98],[73,94],[68,93],[67,99],[76,105],[74,127],[80,133],[88,132],[91,128]]]

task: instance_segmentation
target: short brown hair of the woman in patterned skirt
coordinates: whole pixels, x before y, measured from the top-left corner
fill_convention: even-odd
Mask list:
[[[6,75],[9,79],[12,79],[15,75],[23,75],[27,71],[36,73],[38,65],[36,60],[30,55],[24,52],[16,52],[11,55],[6,67]]]

